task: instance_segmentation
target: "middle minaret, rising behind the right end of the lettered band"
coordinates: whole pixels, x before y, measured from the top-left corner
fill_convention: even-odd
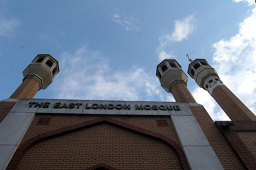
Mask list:
[[[175,59],[164,59],[156,67],[156,76],[167,93],[172,93],[176,102],[196,103],[187,88],[187,75]]]

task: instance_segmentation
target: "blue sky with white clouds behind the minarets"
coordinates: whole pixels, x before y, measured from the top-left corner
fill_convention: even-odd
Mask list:
[[[175,58],[206,58],[256,113],[254,0],[0,0],[0,100],[22,82],[37,54],[60,72],[35,98],[174,101],[155,76]],[[214,120],[229,120],[189,77],[188,88]]]

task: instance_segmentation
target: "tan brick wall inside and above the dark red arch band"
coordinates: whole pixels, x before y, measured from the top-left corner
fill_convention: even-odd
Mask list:
[[[43,117],[51,118],[49,125],[37,125]],[[35,135],[99,117],[37,114],[21,144]],[[169,117],[108,117],[160,133],[180,145]],[[167,121],[168,127],[159,127],[156,120]],[[100,163],[116,169],[182,169],[178,156],[164,142],[107,123],[39,142],[28,149],[17,169],[86,169]]]

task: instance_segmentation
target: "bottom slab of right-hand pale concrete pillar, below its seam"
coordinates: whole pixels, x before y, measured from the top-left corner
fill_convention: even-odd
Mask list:
[[[224,170],[211,146],[184,146],[191,170]]]

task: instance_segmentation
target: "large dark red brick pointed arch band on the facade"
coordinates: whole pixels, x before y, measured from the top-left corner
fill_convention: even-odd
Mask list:
[[[137,126],[133,126],[133,125],[130,125],[128,123],[117,121],[115,119],[111,119],[111,118],[108,118],[108,117],[101,117],[101,118],[98,118],[98,119],[93,119],[93,120],[90,120],[90,121],[85,121],[83,123],[78,123],[78,124],[67,126],[65,128],[60,128],[60,129],[57,129],[57,130],[52,130],[50,132],[42,133],[40,135],[32,137],[31,139],[27,140],[24,144],[22,144],[15,151],[15,153],[12,156],[12,159],[9,162],[6,170],[15,170],[15,168],[17,167],[19,161],[21,160],[21,157],[24,155],[24,153],[30,147],[32,147],[33,145],[37,144],[38,142],[41,142],[43,140],[46,140],[46,139],[49,139],[49,138],[52,138],[52,137],[57,137],[57,136],[60,136],[60,135],[71,133],[71,132],[74,132],[74,131],[77,131],[77,130],[81,130],[81,129],[84,129],[84,128],[88,128],[90,126],[95,126],[95,125],[97,125],[99,123],[109,123],[109,124],[117,126],[119,128],[130,130],[130,131],[133,131],[135,133],[139,133],[141,135],[145,135],[147,137],[151,137],[151,138],[154,138],[156,140],[160,140],[161,142],[166,143],[178,155],[178,158],[179,158],[180,163],[181,163],[181,165],[183,167],[183,170],[190,170],[190,167],[189,167],[189,165],[187,163],[187,159],[185,157],[183,149],[176,142],[171,140],[170,138],[168,138],[168,137],[166,137],[164,135],[161,135],[159,133],[155,133],[155,132],[152,132],[150,130],[139,128]]]

